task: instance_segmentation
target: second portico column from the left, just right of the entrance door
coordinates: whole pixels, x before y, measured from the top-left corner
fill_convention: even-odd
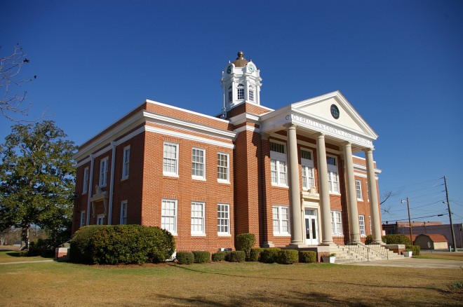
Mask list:
[[[320,133],[316,140],[318,156],[318,190],[320,193],[320,207],[322,220],[322,243],[332,245],[333,231],[331,230],[330,184],[328,182],[328,165],[326,164],[325,135]]]

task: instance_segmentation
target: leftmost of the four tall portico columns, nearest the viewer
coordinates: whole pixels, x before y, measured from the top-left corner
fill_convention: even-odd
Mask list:
[[[291,210],[291,244],[304,244],[302,236],[302,217],[301,217],[301,196],[299,184],[299,163],[297,159],[297,137],[296,126],[288,127],[288,172],[290,189],[290,210]]]

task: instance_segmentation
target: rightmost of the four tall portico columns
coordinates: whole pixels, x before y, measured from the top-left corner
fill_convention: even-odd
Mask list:
[[[380,224],[380,205],[376,189],[375,165],[373,163],[373,149],[365,149],[365,160],[368,180],[368,197],[370,197],[371,226],[373,230],[373,241],[382,243]]]

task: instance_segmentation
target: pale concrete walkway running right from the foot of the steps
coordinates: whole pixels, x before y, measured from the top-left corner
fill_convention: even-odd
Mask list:
[[[463,270],[463,261],[440,259],[403,258],[391,260],[378,260],[369,262],[351,262],[340,264],[342,266],[398,266],[402,268],[460,268]]]

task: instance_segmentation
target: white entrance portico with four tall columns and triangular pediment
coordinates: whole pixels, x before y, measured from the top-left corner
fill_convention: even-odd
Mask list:
[[[269,137],[273,135],[276,139],[283,139],[281,131],[286,131],[290,245],[302,247],[313,245],[314,242],[318,245],[335,245],[333,228],[337,232],[336,236],[339,236],[340,231],[336,228],[337,221],[333,222],[333,219],[338,217],[337,214],[333,214],[332,201],[337,203],[337,207],[340,207],[341,203],[345,203],[347,207],[347,218],[344,216],[344,221],[349,225],[344,226],[344,229],[348,229],[349,233],[343,234],[344,241],[361,242],[361,236],[364,237],[365,233],[361,235],[359,226],[353,156],[353,153],[361,151],[365,153],[365,176],[370,187],[368,199],[371,233],[373,240],[381,243],[377,179],[373,162],[373,141],[377,135],[342,94],[334,92],[290,104],[264,114],[260,119],[261,133]],[[316,144],[304,140],[307,138],[314,139]],[[300,182],[302,176],[298,154],[302,147],[310,148],[316,157],[316,184],[309,191],[303,191]],[[337,161],[336,157],[340,157],[341,161]],[[335,165],[328,165],[328,161]],[[340,169],[332,172],[333,166]],[[336,178],[339,174],[343,175],[341,180]],[[342,182],[345,189],[340,186]],[[339,219],[341,223],[341,217]]]

